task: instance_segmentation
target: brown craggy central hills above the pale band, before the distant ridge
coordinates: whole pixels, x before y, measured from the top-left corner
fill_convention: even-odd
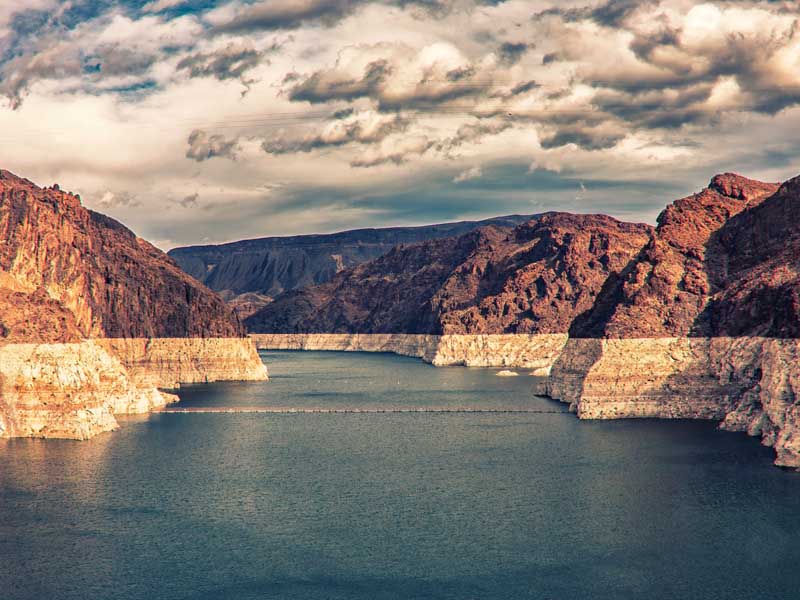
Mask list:
[[[256,333],[565,333],[647,242],[647,225],[552,213],[397,247],[246,320]]]

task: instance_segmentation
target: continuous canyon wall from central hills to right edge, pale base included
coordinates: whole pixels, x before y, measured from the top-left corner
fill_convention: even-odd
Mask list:
[[[247,324],[294,334],[267,348],[549,372],[534,391],[580,418],[717,420],[800,467],[799,224],[800,178],[726,173],[656,228],[551,213],[396,249]]]

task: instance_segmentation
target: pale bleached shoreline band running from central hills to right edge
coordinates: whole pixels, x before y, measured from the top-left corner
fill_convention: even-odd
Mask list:
[[[262,350],[391,352],[435,366],[532,369],[532,393],[580,419],[707,419],[800,468],[800,340],[566,335],[253,334]]]

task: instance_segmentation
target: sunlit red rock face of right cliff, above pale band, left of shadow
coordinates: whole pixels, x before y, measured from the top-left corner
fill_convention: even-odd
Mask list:
[[[710,297],[727,281],[716,234],[742,211],[778,189],[739,175],[717,175],[709,186],[670,204],[650,242],[609,282],[594,309],[573,326],[573,337],[708,335],[697,323]]]

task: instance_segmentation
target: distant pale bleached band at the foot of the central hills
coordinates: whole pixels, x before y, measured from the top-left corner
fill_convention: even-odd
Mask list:
[[[567,341],[565,334],[251,334],[263,350],[392,352],[436,366],[519,367],[548,370]]]

